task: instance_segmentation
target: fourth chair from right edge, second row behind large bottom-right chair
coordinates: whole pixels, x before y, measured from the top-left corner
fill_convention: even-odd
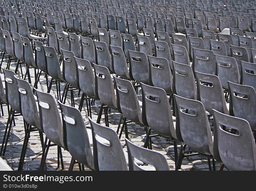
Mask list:
[[[177,63],[190,65],[189,53],[183,46],[172,44],[173,48],[173,60]]]

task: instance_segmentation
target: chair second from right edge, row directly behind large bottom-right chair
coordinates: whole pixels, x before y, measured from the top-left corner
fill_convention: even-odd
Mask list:
[[[197,100],[201,101],[205,110],[212,114],[212,109],[229,114],[221,82],[218,76],[195,72],[197,82]]]

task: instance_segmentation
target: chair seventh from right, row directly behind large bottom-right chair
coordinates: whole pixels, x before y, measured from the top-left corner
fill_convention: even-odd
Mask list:
[[[113,63],[111,61],[108,45],[105,42],[94,41],[97,64],[107,67],[109,71],[114,72]]]

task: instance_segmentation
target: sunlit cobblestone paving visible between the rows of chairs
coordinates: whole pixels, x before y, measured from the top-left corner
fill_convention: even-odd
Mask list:
[[[7,62],[7,58],[4,59],[3,68],[6,67],[6,62]],[[15,70],[14,62],[11,64],[10,69]],[[23,66],[22,71],[23,72],[25,71],[24,66]],[[33,84],[33,82],[35,81],[33,69],[30,69],[30,74],[31,74],[31,81]],[[20,70],[18,70],[17,76],[21,77]],[[48,80],[50,80],[50,78]],[[64,83],[61,84],[62,91],[63,91],[63,88],[64,88]],[[42,90],[43,92],[47,92],[46,80],[45,80],[44,76],[40,77],[38,89]],[[141,93],[141,90],[139,89],[138,94],[140,94],[140,93]],[[55,85],[52,86],[51,94],[54,95],[57,99]],[[78,95],[78,91],[75,91],[74,97],[75,97],[75,104],[76,104],[77,108],[80,103],[80,98],[81,98],[80,96]],[[68,94],[67,98],[68,99],[66,101],[66,104],[71,105],[69,94]],[[95,121],[97,119],[97,113],[99,112],[100,105],[101,105],[100,101],[95,101],[95,105],[92,106],[92,118]],[[4,116],[0,117],[0,143],[3,140],[3,133],[5,130],[7,119],[8,119],[7,106],[4,106],[3,109],[4,109]],[[85,103],[84,103],[84,109],[82,110],[82,115],[83,115],[85,124],[87,126],[90,126],[88,117],[87,117]],[[103,117],[104,117],[104,115],[102,115],[101,123],[105,124]],[[114,130],[117,129],[119,119],[120,119],[120,113],[111,109],[111,112],[109,113],[109,125]],[[21,152],[21,148],[22,148],[22,144],[23,144],[23,140],[24,140],[23,118],[21,116],[15,117],[15,123],[16,123],[16,126],[13,126],[11,129],[11,135],[8,140],[8,146],[6,149],[5,156],[3,156],[2,158],[6,159],[7,163],[14,170],[17,170],[20,152]],[[135,123],[129,123],[128,124],[128,133],[129,133],[129,139],[134,144],[143,146],[144,138],[146,135],[145,131],[144,131],[144,127],[141,127]],[[125,135],[123,134],[122,138],[121,138],[122,145],[125,144],[124,137],[125,137]],[[162,153],[166,157],[170,169],[174,170],[175,163],[174,163],[173,143],[161,136],[152,138],[152,141],[153,141],[153,143],[152,143],[153,150],[155,150],[159,153]],[[179,145],[178,145],[178,149],[179,149]],[[40,165],[40,160],[41,160],[41,153],[42,153],[42,149],[41,149],[39,134],[38,134],[38,132],[32,132],[31,137],[29,139],[29,144],[28,144],[28,149],[26,152],[26,158],[25,158],[23,170],[38,170],[39,165]],[[60,170],[60,168],[56,169],[56,167],[57,167],[57,154],[56,153],[57,153],[57,147],[55,147],[55,146],[50,147],[49,154],[47,156],[47,161],[46,161],[47,162],[47,170]],[[63,153],[63,161],[64,161],[64,165],[65,165],[64,170],[68,170],[71,156],[67,151],[64,151],[64,150],[62,151],[62,153]],[[220,166],[220,164],[216,163],[216,169],[218,169],[219,166]],[[193,156],[190,158],[184,158],[181,168],[182,168],[182,170],[209,170],[207,158],[204,156],[200,156],[200,155]],[[77,165],[75,165],[74,170],[79,170]],[[86,169],[86,170],[89,170],[89,169]]]

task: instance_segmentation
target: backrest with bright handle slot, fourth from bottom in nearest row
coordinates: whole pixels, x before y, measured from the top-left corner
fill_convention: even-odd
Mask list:
[[[48,93],[34,89],[38,100],[38,111],[41,127],[46,137],[66,149],[63,138],[61,115],[58,111],[55,98]]]

